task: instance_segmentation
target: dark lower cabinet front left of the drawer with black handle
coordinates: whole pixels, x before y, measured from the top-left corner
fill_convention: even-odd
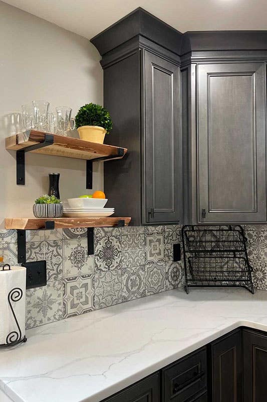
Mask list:
[[[156,373],[102,402],[159,402],[159,400],[159,373]]]

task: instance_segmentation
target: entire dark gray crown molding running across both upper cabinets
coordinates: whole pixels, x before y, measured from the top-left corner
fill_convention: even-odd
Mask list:
[[[267,50],[267,31],[196,31],[182,34],[142,8],[134,10],[91,42],[105,60],[114,59],[128,44],[146,40],[161,46],[174,55],[214,51],[264,51]],[[175,57],[174,57],[175,58]]]

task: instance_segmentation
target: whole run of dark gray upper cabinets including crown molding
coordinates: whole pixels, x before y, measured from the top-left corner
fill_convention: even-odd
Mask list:
[[[266,222],[267,31],[181,34],[138,8],[91,42],[104,68],[109,206],[132,224]]]

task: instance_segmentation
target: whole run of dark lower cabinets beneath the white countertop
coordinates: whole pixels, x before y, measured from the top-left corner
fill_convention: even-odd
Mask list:
[[[238,328],[102,402],[266,402],[267,334]]]

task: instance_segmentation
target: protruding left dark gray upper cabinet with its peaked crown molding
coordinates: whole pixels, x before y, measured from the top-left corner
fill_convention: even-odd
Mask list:
[[[180,58],[174,53],[180,42],[175,38],[181,34],[138,9],[92,39],[106,52],[104,106],[114,123],[106,141],[128,148],[123,160],[105,162],[104,188],[108,205],[117,216],[131,217],[133,225],[181,219]]]

